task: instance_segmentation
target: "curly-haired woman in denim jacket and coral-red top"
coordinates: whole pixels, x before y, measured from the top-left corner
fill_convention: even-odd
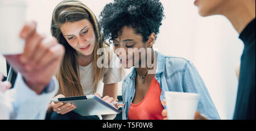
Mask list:
[[[163,119],[165,91],[199,93],[197,110],[220,119],[195,66],[154,50],[163,10],[159,0],[114,0],[101,12],[104,40],[113,43],[123,67],[133,67],[122,84],[123,119]]]

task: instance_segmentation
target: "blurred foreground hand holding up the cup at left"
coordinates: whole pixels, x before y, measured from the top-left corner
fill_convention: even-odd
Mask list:
[[[35,21],[24,25],[20,38],[25,40],[23,54],[5,55],[5,58],[15,71],[22,74],[28,87],[41,94],[60,67],[65,52],[64,47],[56,38],[46,38],[36,32]]]

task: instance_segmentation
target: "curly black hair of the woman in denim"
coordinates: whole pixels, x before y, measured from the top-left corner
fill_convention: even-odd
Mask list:
[[[141,34],[143,42],[151,33],[159,33],[164,18],[164,8],[159,0],[114,0],[107,4],[100,15],[104,40],[114,40],[125,26]]]

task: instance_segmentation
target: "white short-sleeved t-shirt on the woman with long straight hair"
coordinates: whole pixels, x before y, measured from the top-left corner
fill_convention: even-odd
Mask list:
[[[112,66],[111,67],[109,66],[109,68],[105,68],[104,75],[102,76],[101,80],[98,81],[98,87],[96,91],[97,93],[99,93],[99,91],[103,89],[103,84],[109,85],[109,84],[114,84],[123,80],[123,78],[125,77],[125,72],[123,71],[122,66],[117,67],[119,62],[120,60],[117,57],[117,55],[113,54],[110,57],[110,63],[112,63],[110,65]],[[86,67],[82,67],[79,65],[79,71],[80,71],[80,82],[81,82],[82,90],[84,91],[84,95],[92,95],[94,91],[93,63],[90,63]]]

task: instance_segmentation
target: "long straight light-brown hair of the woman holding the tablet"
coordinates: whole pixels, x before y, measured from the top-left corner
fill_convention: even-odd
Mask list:
[[[80,84],[77,52],[65,40],[63,34],[61,33],[60,27],[67,22],[73,23],[83,19],[87,19],[90,21],[90,23],[92,23],[96,36],[96,44],[93,50],[93,93],[96,93],[98,81],[100,81],[105,70],[105,68],[97,67],[97,59],[101,57],[101,55],[97,55],[97,50],[104,49],[104,59],[106,58],[109,61],[109,51],[105,50],[109,44],[102,40],[100,27],[93,12],[82,2],[77,0],[65,0],[60,2],[53,11],[51,33],[52,36],[56,37],[59,43],[65,47],[63,63],[61,64],[60,70],[57,73],[57,80],[60,84],[58,94],[63,94],[65,97],[84,95],[84,93]]]

